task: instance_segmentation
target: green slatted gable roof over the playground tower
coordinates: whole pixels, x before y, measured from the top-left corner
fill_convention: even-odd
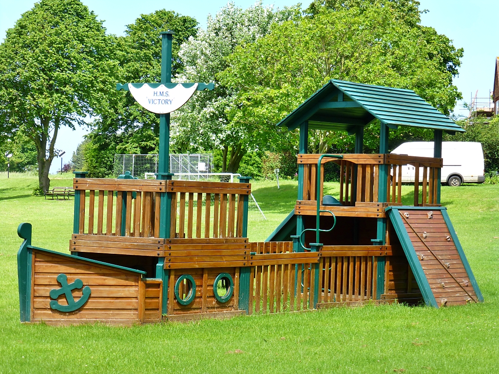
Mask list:
[[[278,123],[288,130],[308,122],[309,129],[353,131],[378,119],[385,125],[464,132],[449,117],[412,90],[331,79]]]

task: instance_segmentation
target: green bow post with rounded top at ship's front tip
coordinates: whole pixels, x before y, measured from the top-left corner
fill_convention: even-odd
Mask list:
[[[17,226],[17,235],[24,239],[17,251],[17,281],[19,286],[19,318],[21,322],[31,320],[31,223]]]

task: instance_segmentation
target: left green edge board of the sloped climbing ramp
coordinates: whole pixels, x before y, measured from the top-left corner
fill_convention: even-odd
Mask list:
[[[416,250],[412,245],[411,238],[409,237],[407,229],[404,226],[404,222],[402,222],[402,218],[400,217],[399,209],[392,207],[392,209],[388,211],[388,217],[392,221],[395,232],[397,233],[400,243],[402,244],[402,248],[404,249],[404,253],[409,261],[409,265],[411,266],[414,277],[416,278],[416,282],[418,283],[418,287],[423,295],[425,304],[438,308],[439,306],[430,288],[425,272],[423,271],[421,262],[419,262],[418,256],[416,255]]]

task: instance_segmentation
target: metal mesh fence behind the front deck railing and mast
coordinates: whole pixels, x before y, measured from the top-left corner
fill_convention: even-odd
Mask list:
[[[137,178],[158,173],[158,155],[114,155],[114,174],[119,176],[126,171]],[[207,179],[212,173],[212,154],[178,154],[170,155],[170,173],[177,175],[176,179],[199,181]]]

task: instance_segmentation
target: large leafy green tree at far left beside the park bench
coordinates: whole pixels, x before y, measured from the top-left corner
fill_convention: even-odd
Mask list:
[[[49,188],[57,133],[107,110],[114,89],[110,38],[79,0],[41,0],[0,45],[0,122],[34,143],[38,182]],[[5,132],[4,130],[2,131]]]

